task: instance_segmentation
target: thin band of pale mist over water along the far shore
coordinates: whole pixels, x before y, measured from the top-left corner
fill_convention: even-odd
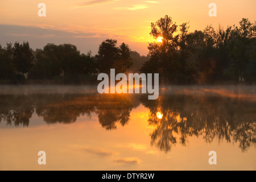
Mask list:
[[[216,94],[226,92],[236,94],[256,94],[253,85],[159,85],[159,92],[164,94]],[[64,94],[64,93],[98,93],[97,85],[1,85],[0,94]]]

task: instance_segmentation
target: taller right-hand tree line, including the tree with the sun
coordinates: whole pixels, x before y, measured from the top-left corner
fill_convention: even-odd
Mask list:
[[[149,44],[141,72],[175,84],[256,81],[256,22],[242,18],[226,30],[188,30],[188,22],[178,26],[168,15],[151,23],[151,36],[162,42]]]

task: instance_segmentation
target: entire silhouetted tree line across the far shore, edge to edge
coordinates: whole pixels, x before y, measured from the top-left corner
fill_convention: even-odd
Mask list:
[[[131,51],[117,40],[106,39],[92,52],[80,53],[72,44],[48,43],[33,51],[28,42],[0,45],[0,80],[95,81],[98,73],[159,73],[160,81],[173,84],[256,81],[256,22],[243,18],[239,26],[207,26],[189,32],[166,15],[151,23],[150,35],[162,41],[148,45],[148,56]]]

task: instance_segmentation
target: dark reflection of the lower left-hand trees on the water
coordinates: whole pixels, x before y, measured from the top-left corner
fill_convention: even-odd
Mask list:
[[[81,115],[92,113],[106,130],[125,126],[130,112],[139,105],[138,98],[119,94],[44,94],[30,96],[1,95],[0,121],[7,125],[28,126],[32,114],[43,117],[48,124],[76,122]]]

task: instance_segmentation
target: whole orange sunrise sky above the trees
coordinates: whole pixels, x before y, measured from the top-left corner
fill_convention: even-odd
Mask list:
[[[46,4],[46,17],[39,17],[39,3]],[[216,3],[217,16],[208,7]],[[105,39],[125,42],[133,51],[147,55],[150,24],[171,16],[177,24],[189,22],[189,31],[212,24],[226,28],[242,18],[256,19],[255,0],[0,0],[0,44],[28,41],[32,49],[47,43],[71,43],[81,53],[97,53]]]

